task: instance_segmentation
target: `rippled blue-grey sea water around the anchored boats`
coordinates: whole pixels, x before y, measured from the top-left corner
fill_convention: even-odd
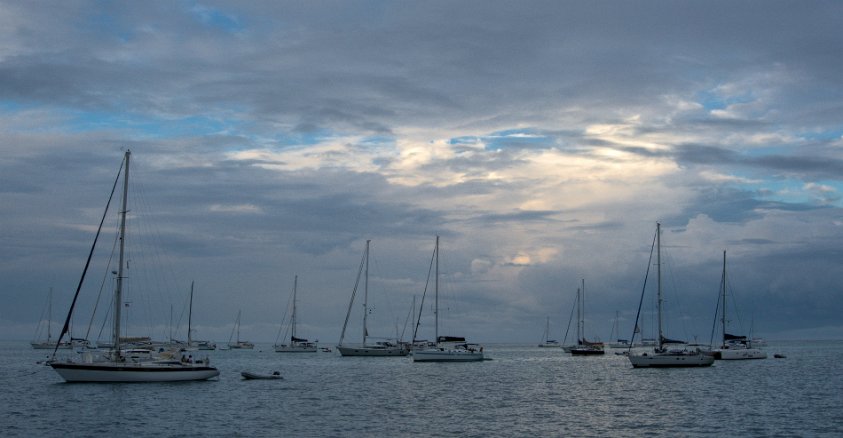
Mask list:
[[[46,352],[2,342],[0,435],[843,436],[843,342],[767,351],[704,369],[633,369],[622,356],[534,346],[487,345],[493,360],[449,364],[259,345],[209,352],[218,380],[67,384],[36,364]],[[243,370],[284,380],[241,380]]]

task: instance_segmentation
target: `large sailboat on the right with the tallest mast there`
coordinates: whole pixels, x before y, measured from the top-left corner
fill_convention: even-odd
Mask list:
[[[672,341],[664,336],[662,328],[662,264],[661,264],[661,224],[656,224],[656,271],[657,271],[657,291],[658,291],[658,327],[659,337],[657,345],[652,352],[642,354],[632,354],[629,352],[629,361],[633,368],[668,368],[668,367],[707,367],[714,363],[712,356],[704,354],[699,348],[694,350],[688,349],[668,349],[666,345],[676,344],[677,341]],[[650,260],[652,260],[652,250],[650,251]],[[649,274],[649,263],[647,273]],[[645,277],[645,288],[641,290],[641,302],[644,300],[644,290],[646,289],[647,280]],[[641,305],[638,307],[638,314],[641,314]],[[638,327],[638,317],[635,318],[635,327]],[[633,341],[634,341],[633,335]]]

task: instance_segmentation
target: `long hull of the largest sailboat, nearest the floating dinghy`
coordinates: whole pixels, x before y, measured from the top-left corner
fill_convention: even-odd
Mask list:
[[[214,367],[183,364],[54,362],[50,366],[66,382],[182,382],[220,374]]]

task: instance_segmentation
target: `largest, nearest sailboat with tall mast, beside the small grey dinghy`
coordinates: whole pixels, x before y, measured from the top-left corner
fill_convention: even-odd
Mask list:
[[[129,193],[129,161],[131,158],[131,151],[126,151],[123,162],[121,163],[121,171],[125,166],[125,173],[123,174],[123,201],[120,209],[120,250],[119,250],[119,266],[117,268],[117,284],[114,289],[114,314],[112,316],[112,346],[102,356],[94,357],[92,352],[85,352],[82,355],[82,360],[65,359],[60,360],[56,358],[56,350],[53,350],[53,357],[48,361],[48,364],[67,382],[173,382],[186,380],[207,380],[218,376],[219,371],[210,366],[208,359],[200,361],[179,361],[172,357],[155,357],[151,354],[139,357],[131,354],[130,351],[121,349],[120,339],[120,311],[123,307],[123,282],[125,276],[123,274],[126,259],[124,257],[124,247],[126,243],[126,213],[128,209],[128,193]],[[117,174],[118,179],[114,181],[111,195],[117,188],[117,182],[120,177],[120,172]],[[96,248],[97,240],[102,231],[102,225],[105,217],[108,214],[108,207],[111,204],[111,197],[106,204],[105,213],[103,213],[99,228],[97,229],[94,244],[88,254],[88,260],[85,263],[85,269],[82,271],[82,277],[79,279],[79,284],[76,288],[76,294],[67,313],[64,326],[56,344],[56,349],[60,345],[62,337],[68,333],[71,317],[73,316],[73,308],[76,300],[79,298],[79,291],[85,280],[85,274],[88,271],[88,266],[91,262],[94,249]],[[147,353],[149,353],[147,351]]]

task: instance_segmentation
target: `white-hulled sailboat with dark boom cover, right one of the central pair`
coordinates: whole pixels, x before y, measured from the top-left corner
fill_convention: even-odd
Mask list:
[[[474,362],[483,360],[483,347],[467,343],[462,336],[439,336],[439,236],[436,236],[433,257],[431,262],[435,261],[436,263],[433,310],[436,344],[428,348],[414,349],[413,362]],[[424,297],[422,297],[422,306],[424,306]],[[419,312],[420,319],[421,312]],[[418,322],[416,328],[418,329]],[[413,338],[415,338],[415,335]],[[413,344],[415,344],[415,339]]]

